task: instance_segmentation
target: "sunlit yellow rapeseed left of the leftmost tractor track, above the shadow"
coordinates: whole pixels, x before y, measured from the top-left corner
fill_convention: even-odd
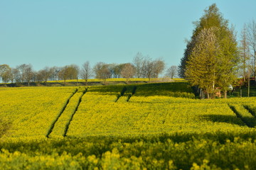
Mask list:
[[[46,135],[74,88],[0,89],[0,117],[11,122],[4,137]]]

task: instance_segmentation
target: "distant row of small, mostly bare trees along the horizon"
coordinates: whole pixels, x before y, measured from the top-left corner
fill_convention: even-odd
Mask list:
[[[45,67],[35,71],[31,64],[21,64],[15,68],[9,67],[8,64],[0,65],[0,78],[4,83],[23,83],[31,82],[57,81],[68,79],[84,79],[87,84],[88,79],[106,79],[110,78],[159,78],[164,73],[166,64],[161,58],[153,60],[151,57],[142,55],[138,52],[133,58],[132,63],[107,64],[97,62],[93,67],[90,62],[83,63],[80,67],[76,64],[66,65],[64,67]],[[173,79],[178,76],[178,67],[171,66],[166,69],[166,77]]]

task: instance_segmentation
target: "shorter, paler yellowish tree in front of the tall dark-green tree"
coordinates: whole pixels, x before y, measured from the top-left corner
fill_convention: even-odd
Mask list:
[[[205,90],[208,98],[213,96],[218,76],[220,47],[215,31],[217,31],[217,28],[208,28],[201,30],[201,33],[198,34],[185,72],[185,76],[191,81],[191,85]]]

